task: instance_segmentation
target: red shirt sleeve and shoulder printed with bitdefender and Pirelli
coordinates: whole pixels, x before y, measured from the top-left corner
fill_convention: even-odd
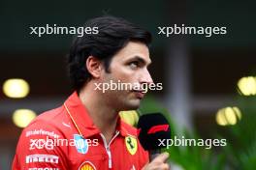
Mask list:
[[[46,162],[36,161],[32,157],[48,158],[47,156],[55,157],[54,161],[50,159],[53,162],[49,162],[49,167],[67,166],[65,163],[67,149],[56,143],[56,141],[66,138],[63,128],[59,126],[59,121],[62,121],[63,115],[65,115],[62,113],[61,107],[44,112],[22,130],[16,146],[15,166],[24,166],[25,168],[42,166],[42,163]]]

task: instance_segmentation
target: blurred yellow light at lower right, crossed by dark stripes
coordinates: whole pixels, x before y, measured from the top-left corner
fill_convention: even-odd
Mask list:
[[[219,109],[216,114],[216,122],[219,126],[233,126],[241,119],[240,109],[238,107],[225,107]]]

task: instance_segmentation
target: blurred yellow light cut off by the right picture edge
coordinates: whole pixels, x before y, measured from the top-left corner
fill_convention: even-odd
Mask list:
[[[240,78],[238,87],[241,95],[252,96],[256,95],[256,77],[247,76]]]

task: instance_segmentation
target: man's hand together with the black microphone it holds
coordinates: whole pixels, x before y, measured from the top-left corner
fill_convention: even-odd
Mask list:
[[[138,128],[140,143],[149,152],[150,162],[144,166],[144,170],[169,169],[169,164],[166,163],[169,154],[161,154],[162,145],[159,145],[159,141],[171,139],[171,129],[166,118],[160,113],[143,115]]]

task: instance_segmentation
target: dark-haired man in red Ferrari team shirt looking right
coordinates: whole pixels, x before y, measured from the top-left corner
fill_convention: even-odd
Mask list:
[[[113,16],[87,21],[97,34],[78,37],[68,56],[75,92],[59,108],[41,114],[22,131],[13,169],[168,169],[167,154],[148,162],[136,128],[122,122],[121,110],[137,109],[144,91],[103,91],[112,83],[153,83],[150,33]]]

